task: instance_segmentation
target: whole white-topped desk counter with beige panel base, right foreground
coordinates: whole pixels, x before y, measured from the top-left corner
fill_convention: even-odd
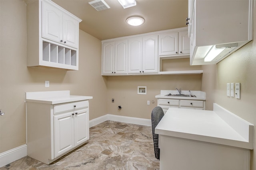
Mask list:
[[[254,125],[218,104],[213,111],[171,107],[155,133],[162,170],[250,169]]]

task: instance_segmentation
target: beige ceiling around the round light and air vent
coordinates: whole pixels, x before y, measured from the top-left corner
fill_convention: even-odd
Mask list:
[[[188,0],[137,0],[136,6],[126,9],[118,0],[105,0],[110,9],[99,12],[88,4],[93,0],[52,1],[80,18],[80,29],[100,40],[186,27],[188,16]],[[130,26],[130,16],[141,16],[145,23]]]

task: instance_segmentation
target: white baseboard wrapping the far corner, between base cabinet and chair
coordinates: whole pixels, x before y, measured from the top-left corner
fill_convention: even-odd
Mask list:
[[[127,116],[119,116],[119,115],[111,115],[111,114],[106,114],[104,116],[97,117],[96,119],[90,120],[89,126],[93,127],[107,120],[119,121],[123,123],[131,123],[136,125],[152,126],[151,119],[142,119],[137,117],[127,117]]]

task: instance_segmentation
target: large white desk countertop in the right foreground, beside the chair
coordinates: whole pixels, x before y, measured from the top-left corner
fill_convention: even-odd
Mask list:
[[[236,115],[235,123],[227,123],[222,118],[222,108],[215,104],[216,111],[169,108],[158,123],[155,133],[197,141],[218,143],[234,147],[253,149],[254,126]],[[223,113],[226,114],[226,113]],[[229,114],[229,113],[228,113]],[[227,116],[227,114],[225,115]],[[240,123],[238,122],[240,121]],[[237,126],[237,127],[234,127]],[[236,130],[236,129],[244,129]]]

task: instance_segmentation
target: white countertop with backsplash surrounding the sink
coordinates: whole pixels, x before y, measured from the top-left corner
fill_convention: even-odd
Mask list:
[[[182,94],[190,94],[188,90],[182,90]],[[191,91],[191,95],[196,97],[180,97],[180,96],[165,96],[166,94],[178,94],[177,90],[160,90],[160,94],[156,98],[163,99],[186,99],[186,100],[206,100],[206,93],[202,91]]]

